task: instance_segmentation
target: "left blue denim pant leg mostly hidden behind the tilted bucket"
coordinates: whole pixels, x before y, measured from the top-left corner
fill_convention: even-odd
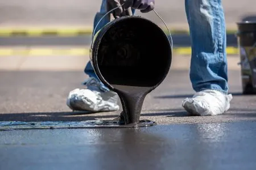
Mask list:
[[[132,11],[134,14],[135,10],[132,10]],[[102,16],[104,16],[106,14],[106,12],[108,12],[106,10],[106,0],[102,0],[101,10],[100,10],[100,12],[97,12],[97,14],[94,17],[93,30],[95,29],[96,25],[98,24],[98,22],[100,21]],[[109,23],[109,19],[107,16],[105,16],[105,18],[102,19],[101,22],[98,24],[98,26],[95,30],[95,33],[97,33],[102,27],[104,27],[108,23]],[[84,73],[98,79],[98,77],[92,67],[92,64],[90,62],[88,62],[87,65],[85,66]]]

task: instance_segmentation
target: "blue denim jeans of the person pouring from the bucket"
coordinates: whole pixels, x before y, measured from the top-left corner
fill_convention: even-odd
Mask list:
[[[228,93],[226,60],[226,25],[221,0],[185,0],[185,11],[191,36],[190,80],[193,90],[218,90]],[[106,13],[106,1],[96,14],[94,27]],[[102,20],[96,32],[109,21]],[[90,62],[85,73],[97,78]]]

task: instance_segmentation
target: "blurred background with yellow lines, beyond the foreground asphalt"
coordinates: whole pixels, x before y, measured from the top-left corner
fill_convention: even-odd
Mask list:
[[[236,22],[254,20],[255,1],[224,0],[223,5],[227,52],[236,56],[229,66],[239,69]],[[89,61],[93,20],[100,6],[101,0],[0,0],[0,70],[82,71]],[[155,10],[172,31],[174,54],[179,56],[179,65],[172,68],[188,69],[191,43],[184,1],[156,1]],[[137,15],[163,27],[154,12]],[[180,62],[184,56],[185,62]]]

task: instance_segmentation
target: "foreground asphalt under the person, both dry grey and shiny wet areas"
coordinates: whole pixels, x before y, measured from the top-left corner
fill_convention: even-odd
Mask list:
[[[240,71],[229,71],[234,99],[220,116],[191,117],[188,70],[172,70],[143,104],[138,129],[0,131],[0,169],[255,169],[256,98],[241,94]],[[71,112],[68,92],[82,71],[0,71],[0,121],[113,120],[119,112]]]

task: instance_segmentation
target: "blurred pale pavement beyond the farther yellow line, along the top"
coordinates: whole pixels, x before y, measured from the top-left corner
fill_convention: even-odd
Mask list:
[[[100,5],[100,0],[0,0],[0,26],[91,26]],[[223,5],[230,29],[236,28],[236,22],[243,17],[255,14],[254,0],[223,0]],[[170,27],[187,27],[184,0],[156,0],[155,9]],[[153,12],[143,16],[160,23]]]

